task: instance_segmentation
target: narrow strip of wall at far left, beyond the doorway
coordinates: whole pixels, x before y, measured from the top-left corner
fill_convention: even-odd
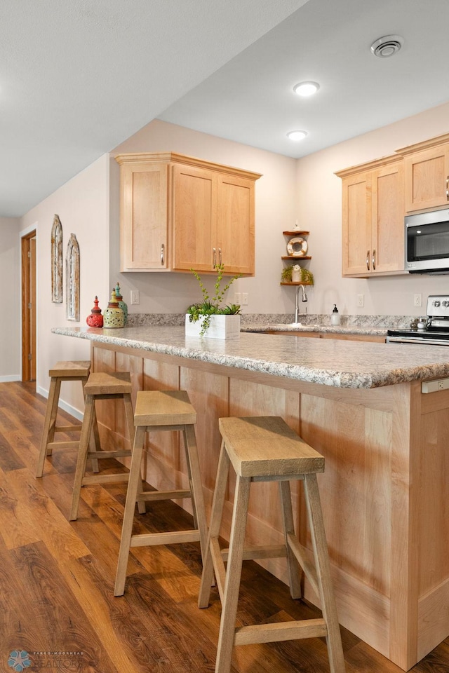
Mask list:
[[[0,217],[0,381],[21,379],[19,220]]]

